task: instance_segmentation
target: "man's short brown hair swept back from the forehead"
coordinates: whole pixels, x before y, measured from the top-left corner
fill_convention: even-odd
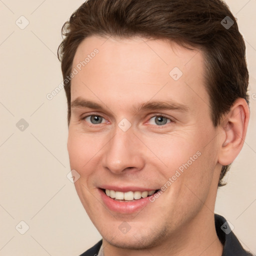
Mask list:
[[[226,17],[228,16],[228,18]],[[225,24],[233,24],[230,27]],[[169,39],[197,47],[205,57],[206,90],[211,119],[220,124],[234,101],[248,103],[245,44],[236,20],[221,0],[87,0],[62,27],[58,57],[64,79],[70,121],[70,80],[78,45],[90,35]],[[222,166],[218,186],[230,164]]]

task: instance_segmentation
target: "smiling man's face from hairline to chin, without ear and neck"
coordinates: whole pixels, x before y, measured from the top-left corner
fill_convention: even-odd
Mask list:
[[[73,68],[70,167],[102,237],[147,247],[209,214],[220,165],[202,53],[163,40],[91,36],[78,46]]]

